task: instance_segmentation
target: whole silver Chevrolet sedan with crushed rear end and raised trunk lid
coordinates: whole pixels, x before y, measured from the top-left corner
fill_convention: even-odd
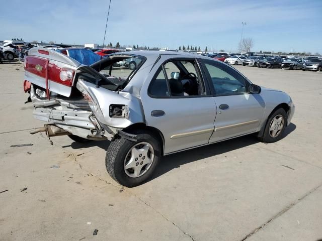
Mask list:
[[[126,59],[136,68],[114,67]],[[163,155],[248,134],[276,142],[295,109],[286,93],[194,54],[130,51],[87,66],[33,48],[24,65],[34,117],[46,123],[32,133],[110,140],[107,172],[128,187],[146,182]]]

